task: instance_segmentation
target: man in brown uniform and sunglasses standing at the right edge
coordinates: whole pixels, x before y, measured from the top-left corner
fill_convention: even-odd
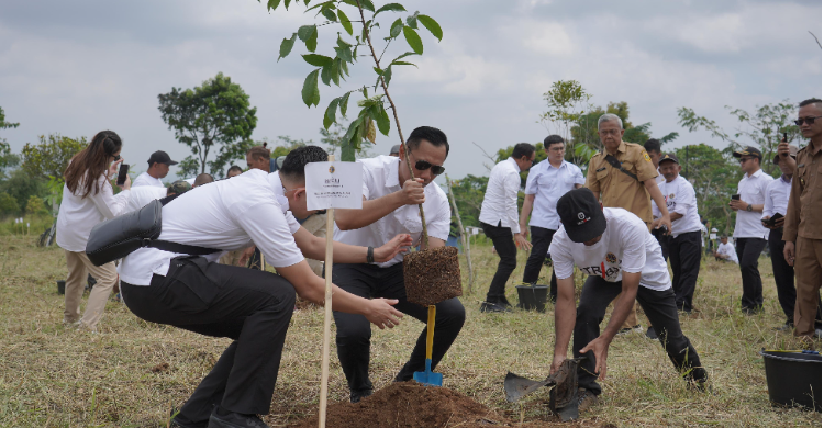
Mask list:
[[[799,150],[797,170],[790,191],[784,221],[784,258],[795,267],[795,336],[821,337],[815,329],[821,290],[821,100],[801,103],[795,122],[810,144]],[[789,156],[790,146],[782,142],[779,156]]]

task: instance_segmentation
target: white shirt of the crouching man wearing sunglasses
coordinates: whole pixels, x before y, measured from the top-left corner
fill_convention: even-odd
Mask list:
[[[398,178],[400,159],[391,156],[379,156],[374,159],[360,159],[358,162],[364,166],[364,198],[367,201],[401,191],[402,188]],[[427,232],[431,237],[446,241],[449,239],[449,223],[452,221],[449,200],[441,187],[435,183],[425,187],[424,194],[426,195],[426,202],[423,204],[423,211],[426,214]],[[401,234],[412,235],[414,246],[420,244],[423,224],[417,205],[401,206],[386,217],[357,230],[341,230],[335,225],[336,241],[360,247],[382,247]],[[389,268],[401,262],[403,262],[403,255],[398,255],[394,259],[378,266]]]

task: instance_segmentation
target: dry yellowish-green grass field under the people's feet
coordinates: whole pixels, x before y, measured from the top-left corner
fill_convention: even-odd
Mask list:
[[[34,239],[7,235],[0,244],[0,427],[165,427],[169,409],[188,397],[229,341],[145,323],[118,303],[107,307],[100,334],[64,328],[63,296],[55,285],[66,275],[63,250],[36,248]],[[514,418],[521,410],[505,402],[503,378],[508,370],[534,379],[548,374],[553,313],[480,314],[497,258],[485,247],[474,256],[475,291],[463,297],[466,327],[438,371],[447,387]],[[523,260],[513,280],[521,278]],[[736,267],[715,261],[702,267],[700,313],[682,325],[711,373],[714,395],[689,392],[660,345],[632,335],[613,342],[603,401],[584,417],[616,427],[821,427],[821,414],[769,404],[757,352],[798,343],[772,330],[782,316],[766,259],[761,272],[766,313],[745,317],[736,309]],[[514,288],[510,293],[516,301]],[[320,311],[294,314],[267,418],[272,426],[316,410],[322,324]],[[391,382],[422,328],[407,318],[394,330],[375,331],[377,387]],[[816,347],[821,350],[820,342]],[[335,402],[348,391],[337,358],[332,361]],[[536,394],[525,404],[526,420],[547,417],[539,405],[546,398]]]

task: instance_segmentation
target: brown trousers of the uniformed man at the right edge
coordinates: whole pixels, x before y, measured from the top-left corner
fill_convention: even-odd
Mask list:
[[[812,337],[821,290],[821,239],[795,239],[795,336]]]

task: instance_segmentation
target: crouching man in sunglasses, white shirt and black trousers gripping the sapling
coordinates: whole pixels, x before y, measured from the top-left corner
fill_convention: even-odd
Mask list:
[[[407,148],[411,153],[408,153]],[[449,237],[452,211],[446,194],[433,181],[444,172],[443,165],[449,155],[446,135],[433,127],[420,127],[412,132],[401,149],[400,158],[380,156],[364,159],[364,207],[363,210],[338,210],[335,240],[359,246],[380,246],[396,234],[410,234],[412,241],[420,243],[423,232],[417,204],[423,204],[430,234],[430,248],[446,245]],[[407,157],[414,169],[410,177]],[[333,280],[342,289],[363,297],[394,299],[397,309],[426,323],[427,309],[407,301],[403,282],[403,256],[399,255],[383,263],[345,264],[335,260]],[[444,358],[464,327],[466,313],[457,299],[438,303],[435,322],[435,339],[432,354],[433,369]],[[361,315],[335,313],[337,325],[337,356],[346,381],[349,383],[353,403],[371,395],[369,380],[369,348],[371,329]],[[396,376],[405,382],[416,371],[423,371],[426,360],[426,329],[421,333],[412,356]]]

